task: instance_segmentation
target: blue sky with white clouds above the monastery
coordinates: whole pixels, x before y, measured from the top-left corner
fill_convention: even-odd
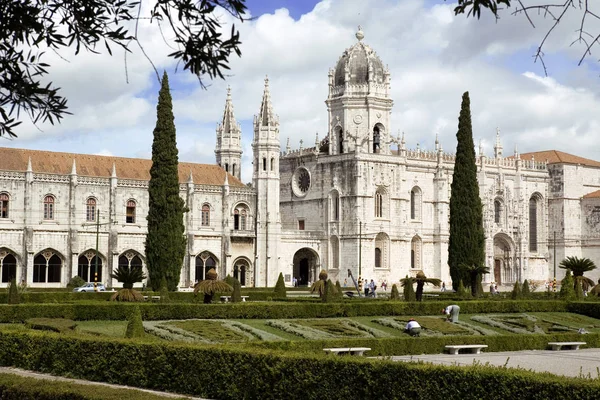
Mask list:
[[[539,0],[532,0],[536,2]],[[250,21],[240,30],[242,56],[232,56],[225,80],[202,88],[195,76],[168,57],[156,24],[140,25],[140,41],[157,70],[167,71],[173,97],[180,161],[214,163],[216,125],[223,116],[227,86],[242,126],[242,181],[251,181],[252,121],[259,112],[268,75],[273,109],[280,119],[282,150],[300,140],[313,145],[327,135],[328,71],[345,49],[363,42],[391,73],[394,101],[390,131],[404,132],[408,148],[431,150],[436,135],[456,151],[461,96],[469,91],[473,137],[493,156],[497,128],[504,155],[560,150],[600,160],[600,68],[597,55],[581,66],[577,38],[581,14],[570,11],[544,47],[548,75],[532,55],[551,21],[506,10],[499,21],[454,16],[452,2],[437,0],[249,0]],[[600,8],[600,5],[598,5]],[[142,10],[145,12],[146,10]],[[598,10],[600,12],[600,10]],[[225,32],[233,19],[223,14]],[[600,23],[588,19],[591,32]],[[163,31],[169,40],[172,35]],[[599,47],[600,49],[600,47]],[[50,80],[68,98],[60,124],[26,120],[18,138],[0,146],[73,153],[151,157],[159,82],[152,64],[132,47],[108,54],[65,49],[48,53]],[[479,147],[476,145],[476,147]]]

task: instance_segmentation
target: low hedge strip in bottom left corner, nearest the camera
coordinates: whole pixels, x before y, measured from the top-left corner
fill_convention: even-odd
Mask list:
[[[164,400],[164,396],[135,389],[111,388],[97,384],[89,385],[52,378],[35,379],[0,373],[0,398],[3,400]],[[173,397],[171,397],[173,398]],[[186,399],[187,397],[178,397]]]

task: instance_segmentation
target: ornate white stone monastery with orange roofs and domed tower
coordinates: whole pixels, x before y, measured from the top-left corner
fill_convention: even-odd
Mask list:
[[[292,150],[288,141],[280,151],[265,80],[254,121],[252,187],[236,179],[241,130],[228,90],[215,149],[222,168],[180,165],[180,193],[190,210],[182,286],[211,267],[259,287],[274,286],[279,273],[288,285],[293,277],[307,284],[321,269],[341,283],[351,282],[348,270],[389,283],[423,271],[450,285],[454,156],[437,140],[435,151],[422,151],[391,134],[389,71],[362,32],[357,38],[329,73],[328,134],[313,147]],[[93,280],[96,237],[100,281],[116,285],[108,276],[120,262],[145,268],[149,161],[0,153],[2,160],[21,157],[0,164],[0,286],[10,275],[33,287],[64,286],[78,273]],[[477,166],[491,270],[484,282],[541,283],[554,276],[555,260],[567,256],[600,265],[600,162],[558,151],[505,157],[498,132],[493,157],[480,149]],[[94,212],[100,209],[98,236],[90,200]],[[564,271],[557,268],[557,276]],[[600,271],[588,276],[597,280]]]

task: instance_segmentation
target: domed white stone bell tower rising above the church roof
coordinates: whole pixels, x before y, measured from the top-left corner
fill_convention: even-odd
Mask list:
[[[360,26],[356,39],[329,70],[329,154],[390,154],[390,72]]]

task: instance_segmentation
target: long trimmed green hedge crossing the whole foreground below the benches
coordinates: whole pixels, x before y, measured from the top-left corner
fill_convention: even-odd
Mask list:
[[[0,363],[217,399],[592,399],[600,391],[597,380],[489,366],[432,366],[57,334],[0,333]]]

